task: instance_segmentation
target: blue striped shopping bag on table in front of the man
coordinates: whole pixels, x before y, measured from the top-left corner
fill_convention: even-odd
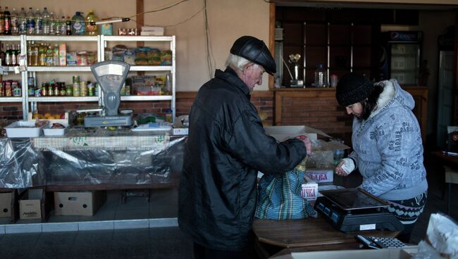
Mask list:
[[[266,220],[298,220],[316,217],[309,201],[300,196],[304,171],[264,175],[259,181],[259,198],[254,217]]]

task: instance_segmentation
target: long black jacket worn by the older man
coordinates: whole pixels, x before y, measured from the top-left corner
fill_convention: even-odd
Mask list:
[[[306,153],[298,139],[277,143],[266,135],[247,85],[231,68],[216,70],[190,110],[180,229],[202,246],[241,250],[252,229],[257,172],[292,170]]]

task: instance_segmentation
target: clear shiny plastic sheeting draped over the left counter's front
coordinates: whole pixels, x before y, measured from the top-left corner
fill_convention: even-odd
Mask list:
[[[0,188],[43,185],[178,184],[186,137],[164,149],[42,150],[30,139],[0,139]]]

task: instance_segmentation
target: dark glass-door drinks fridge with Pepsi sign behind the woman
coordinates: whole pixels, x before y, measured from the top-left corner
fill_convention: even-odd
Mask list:
[[[394,78],[401,85],[418,85],[422,32],[385,32],[383,36],[383,79]]]

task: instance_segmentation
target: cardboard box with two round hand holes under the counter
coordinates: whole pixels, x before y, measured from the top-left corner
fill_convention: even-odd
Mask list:
[[[92,216],[106,201],[106,191],[56,191],[56,215]]]

